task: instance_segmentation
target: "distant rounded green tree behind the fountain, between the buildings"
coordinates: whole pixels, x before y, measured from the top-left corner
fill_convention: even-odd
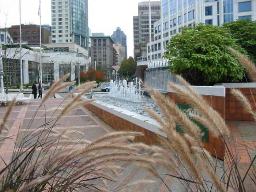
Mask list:
[[[126,76],[126,72],[128,72],[128,76],[134,75],[136,72],[136,66],[136,61],[134,61],[132,57],[129,57],[121,62],[121,67],[118,73],[121,74],[123,71],[124,76]]]

